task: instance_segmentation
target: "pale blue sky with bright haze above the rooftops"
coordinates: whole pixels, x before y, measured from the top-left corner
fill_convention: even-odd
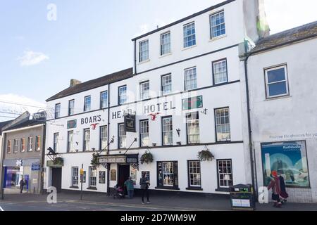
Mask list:
[[[72,78],[132,67],[133,37],[220,1],[0,0],[0,121],[15,116],[1,110],[44,107]],[[265,1],[272,33],[317,20],[316,1]],[[56,21],[46,18],[49,4],[57,6]]]

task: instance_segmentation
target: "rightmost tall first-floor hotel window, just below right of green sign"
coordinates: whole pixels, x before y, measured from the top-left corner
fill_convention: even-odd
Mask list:
[[[221,119],[227,120],[227,116],[223,115],[225,110],[228,110],[228,122],[222,123]],[[220,112],[220,117],[218,116],[218,112]],[[220,123],[218,122],[220,120]],[[215,123],[216,123],[216,141],[221,142],[221,141],[231,141],[231,129],[230,129],[230,109],[229,107],[225,108],[217,108],[215,109]],[[223,131],[223,129],[228,129],[229,133],[229,138],[228,139],[218,139],[218,133],[223,134],[220,131]]]

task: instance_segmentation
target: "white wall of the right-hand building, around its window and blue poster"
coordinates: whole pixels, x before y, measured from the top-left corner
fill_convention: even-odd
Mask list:
[[[307,188],[287,188],[289,200],[293,202],[317,202],[316,60],[316,38],[263,51],[248,60],[258,186],[263,186],[261,143],[306,141],[310,185]],[[277,65],[287,67],[289,95],[267,99],[264,71]]]

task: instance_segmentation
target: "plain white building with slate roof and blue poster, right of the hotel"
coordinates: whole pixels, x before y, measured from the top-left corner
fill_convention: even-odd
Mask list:
[[[317,21],[261,39],[249,53],[256,184],[273,170],[290,201],[317,202]]]

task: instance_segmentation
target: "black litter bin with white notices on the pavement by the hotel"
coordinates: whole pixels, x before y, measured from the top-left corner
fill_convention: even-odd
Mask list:
[[[255,210],[254,189],[251,184],[237,184],[230,187],[232,210]]]

